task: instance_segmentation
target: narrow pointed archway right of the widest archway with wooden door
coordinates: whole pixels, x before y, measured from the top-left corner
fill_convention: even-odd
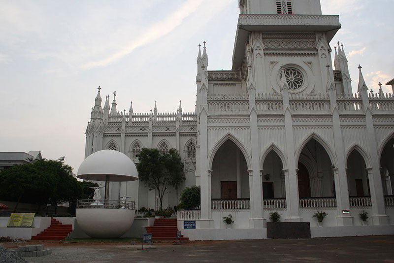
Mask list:
[[[354,149],[346,162],[350,197],[369,196],[369,180],[364,158]]]

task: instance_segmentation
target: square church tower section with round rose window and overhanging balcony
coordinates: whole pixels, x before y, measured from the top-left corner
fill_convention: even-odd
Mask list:
[[[232,70],[251,71],[256,93],[281,93],[282,69],[289,93],[326,92],[338,15],[322,15],[320,0],[239,0],[239,9]]]

